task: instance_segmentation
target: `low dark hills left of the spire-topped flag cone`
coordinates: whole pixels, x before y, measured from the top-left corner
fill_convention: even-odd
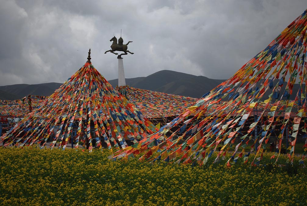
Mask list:
[[[21,99],[27,95],[49,96],[62,83],[43,83],[43,84],[14,84],[7,86],[0,86],[0,99],[14,100]]]

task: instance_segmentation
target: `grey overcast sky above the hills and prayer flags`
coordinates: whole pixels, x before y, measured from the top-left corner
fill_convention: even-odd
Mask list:
[[[63,83],[87,61],[116,79],[113,34],[133,41],[126,78],[173,70],[228,79],[307,8],[306,0],[0,0],[0,85]]]

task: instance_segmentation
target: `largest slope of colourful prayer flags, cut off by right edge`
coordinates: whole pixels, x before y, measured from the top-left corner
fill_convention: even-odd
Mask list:
[[[227,161],[231,166],[238,158],[248,162],[255,147],[256,156],[251,160],[255,165],[260,164],[270,136],[276,135],[276,153],[272,159],[277,162],[282,140],[287,137],[290,145],[287,155],[292,162],[298,134],[300,138],[307,137],[306,13],[307,10],[230,79],[203,95],[157,133],[114,158],[149,149],[143,156],[149,161],[206,164],[219,148],[217,157],[210,161],[219,162],[227,152],[231,152]],[[212,107],[215,107],[214,111]],[[165,141],[157,142],[179,125],[182,126]],[[238,139],[239,142],[235,143]],[[249,143],[252,144],[251,150],[245,153]],[[306,154],[306,142],[303,147],[301,162]]]

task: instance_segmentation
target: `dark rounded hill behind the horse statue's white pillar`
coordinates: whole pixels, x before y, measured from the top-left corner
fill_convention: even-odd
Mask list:
[[[126,84],[140,89],[200,98],[225,80],[209,79],[177,71],[162,70],[147,77],[126,79]],[[118,79],[108,81],[113,87]]]

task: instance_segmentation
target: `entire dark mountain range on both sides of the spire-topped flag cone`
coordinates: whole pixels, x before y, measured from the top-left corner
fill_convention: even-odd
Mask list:
[[[204,76],[162,70],[147,77],[126,79],[126,85],[168,94],[200,98],[223,81],[225,80],[209,79]],[[116,87],[118,79],[112,79],[108,82],[113,87]],[[14,84],[0,86],[0,99],[21,99],[27,95],[49,96],[61,85],[62,83],[52,82],[43,84]]]

